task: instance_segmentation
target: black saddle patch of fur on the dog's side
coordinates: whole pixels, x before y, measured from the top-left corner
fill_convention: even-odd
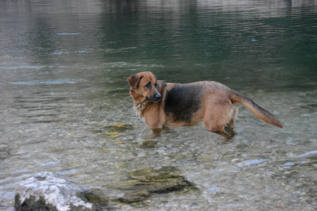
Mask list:
[[[166,93],[165,113],[174,121],[189,123],[201,106],[202,86],[199,84],[175,84]]]

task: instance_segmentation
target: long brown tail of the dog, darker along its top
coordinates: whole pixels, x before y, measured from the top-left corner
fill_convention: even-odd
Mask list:
[[[264,122],[267,122],[269,124],[283,128],[282,123],[273,114],[271,114],[267,110],[261,108],[255,102],[253,102],[252,100],[248,99],[247,97],[241,95],[239,92],[230,90],[228,95],[229,95],[229,98],[231,101],[243,104],[257,118],[259,118],[259,119],[261,119]]]

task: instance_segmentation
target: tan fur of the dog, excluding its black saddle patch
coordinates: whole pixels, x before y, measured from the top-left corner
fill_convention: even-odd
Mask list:
[[[161,129],[163,126],[196,126],[201,125],[201,123],[209,131],[223,131],[224,127],[234,128],[238,115],[237,103],[246,106],[259,119],[283,127],[273,114],[240,93],[215,81],[183,84],[184,87],[188,86],[191,89],[192,87],[198,87],[194,91],[201,96],[199,98],[199,108],[192,113],[190,121],[175,120],[175,116],[167,114],[168,112],[164,107],[168,93],[173,90],[174,86],[176,87],[175,83],[158,81],[151,72],[132,75],[128,78],[128,83],[131,86],[129,94],[133,99],[137,115],[152,129]],[[150,84],[151,87],[146,87],[147,84]],[[177,85],[179,87],[180,84]],[[161,100],[152,102],[151,99],[155,99],[157,96],[162,96]],[[182,111],[179,110],[179,112]]]

